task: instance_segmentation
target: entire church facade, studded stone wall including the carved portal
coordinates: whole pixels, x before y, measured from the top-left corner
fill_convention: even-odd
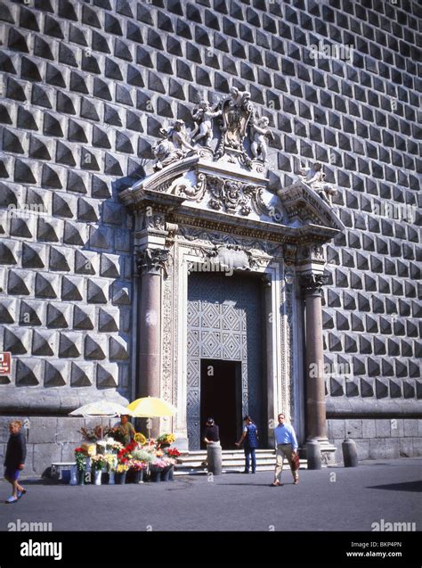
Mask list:
[[[417,3],[6,0],[0,21],[0,452],[23,417],[42,473],[73,409],[150,395],[182,449],[207,416],[232,448],[245,414],[270,448],[285,412],[326,462],[345,438],[420,455]]]

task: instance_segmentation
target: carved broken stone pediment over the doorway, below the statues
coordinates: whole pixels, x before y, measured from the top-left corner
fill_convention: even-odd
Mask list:
[[[301,179],[285,188],[272,179],[271,190],[269,186],[263,172],[196,154],[158,169],[120,197],[134,210],[161,204],[187,218],[244,219],[276,232],[282,227],[303,230],[309,226],[320,235],[326,228],[332,238],[343,229],[329,202]]]

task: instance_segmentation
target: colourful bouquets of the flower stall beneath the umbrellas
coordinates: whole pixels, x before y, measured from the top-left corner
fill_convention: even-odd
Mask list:
[[[157,440],[152,440],[136,432],[134,440],[125,446],[116,440],[121,439],[117,429],[95,426],[90,430],[82,428],[79,432],[84,442],[75,449],[72,485],[174,480],[174,465],[181,455],[178,449],[171,447],[174,434],[162,434]],[[102,438],[103,435],[106,438]]]

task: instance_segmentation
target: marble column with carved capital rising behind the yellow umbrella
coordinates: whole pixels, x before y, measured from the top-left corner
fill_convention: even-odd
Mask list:
[[[141,298],[138,310],[136,398],[160,396],[161,279],[167,258],[168,251],[164,249],[146,249],[137,259]],[[153,436],[157,433],[155,430],[153,427]]]

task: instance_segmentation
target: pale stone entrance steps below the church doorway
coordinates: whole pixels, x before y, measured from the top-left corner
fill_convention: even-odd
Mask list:
[[[207,474],[207,450],[194,450],[184,453],[178,458],[178,465],[174,471],[175,475]],[[286,460],[285,464],[288,466]],[[275,465],[275,450],[257,449],[256,450],[256,471],[270,472]],[[300,468],[306,469],[306,460],[300,460]],[[242,449],[223,449],[223,473],[238,472],[245,469],[245,454]]]

